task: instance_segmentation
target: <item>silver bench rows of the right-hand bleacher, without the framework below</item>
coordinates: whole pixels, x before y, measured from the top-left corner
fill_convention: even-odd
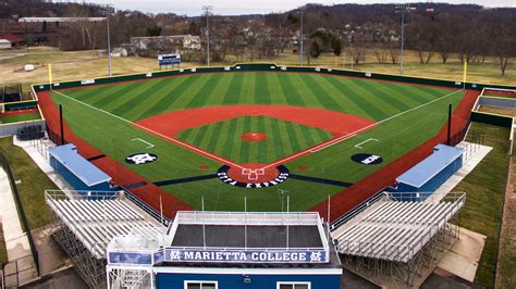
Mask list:
[[[464,198],[453,202],[381,202],[333,236],[341,254],[406,263],[458,213]]]

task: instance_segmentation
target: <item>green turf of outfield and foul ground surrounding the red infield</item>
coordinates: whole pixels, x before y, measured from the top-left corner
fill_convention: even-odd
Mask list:
[[[363,179],[433,137],[446,121],[447,105],[451,103],[455,108],[464,96],[463,91],[426,86],[259,72],[197,74],[86,87],[62,93],[52,92],[51,97],[57,104],[63,104],[64,117],[72,130],[149,181],[205,175],[207,172],[200,171],[199,165],[208,165],[209,173],[221,165],[131,123],[157,114],[226,104],[286,104],[328,109],[379,122],[353,138],[286,164],[295,174],[349,183]],[[226,141],[226,138],[231,140],[231,134],[233,131],[220,137],[205,131],[202,138]],[[145,139],[155,147],[145,149],[143,143],[131,141],[134,138]],[[355,147],[370,138],[378,141],[368,142],[364,149]],[[207,146],[205,148],[210,150]],[[211,150],[217,150],[217,146]],[[159,160],[140,166],[123,161],[140,151],[156,153]],[[384,162],[366,166],[351,160],[353,154],[363,152],[381,155]],[[261,151],[249,152],[247,158],[254,158],[255,153]],[[299,169],[302,165],[308,168]],[[291,191],[291,210],[305,211],[344,189],[296,179],[254,191],[231,187],[218,179],[162,188],[194,208],[200,208],[200,196],[205,194],[206,210],[230,211],[243,210],[245,194],[248,210],[279,211],[278,188]]]

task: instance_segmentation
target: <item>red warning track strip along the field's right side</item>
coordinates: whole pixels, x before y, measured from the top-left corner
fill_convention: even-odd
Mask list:
[[[464,129],[467,127],[469,122],[471,109],[480,91],[476,90],[466,91],[466,96],[463,98],[452,115],[452,136],[460,137],[464,133]],[[433,151],[433,147],[439,143],[445,143],[447,135],[446,128],[447,122],[435,137],[431,138],[423,144],[409,151],[381,169],[370,174],[358,183],[355,183],[349,188],[332,196],[330,199],[330,219],[336,219],[337,217],[353,210],[358,204],[365,202],[378,191],[388,186],[394,185],[395,178],[397,176],[402,175],[404,172],[430,155]],[[458,139],[462,140],[462,138]],[[328,203],[322,202],[312,208],[310,211],[317,211],[321,213],[321,215],[327,215]]]

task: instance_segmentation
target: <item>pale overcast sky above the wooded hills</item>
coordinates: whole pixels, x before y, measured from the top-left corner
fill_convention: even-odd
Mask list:
[[[56,1],[56,0],[54,0]],[[57,2],[59,2],[58,0]],[[306,3],[340,4],[340,3],[392,3],[392,2],[425,2],[425,0],[86,0],[91,3],[111,3],[121,10],[139,10],[151,13],[175,13],[197,16],[201,14],[202,5],[211,5],[218,15],[265,14],[271,12],[285,12]],[[484,7],[512,7],[516,8],[516,0],[447,0],[426,2],[476,3]]]

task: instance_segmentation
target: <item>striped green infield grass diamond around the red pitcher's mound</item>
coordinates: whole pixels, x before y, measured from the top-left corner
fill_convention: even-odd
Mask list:
[[[267,139],[246,141],[244,133]],[[332,138],[330,131],[267,116],[243,116],[181,131],[177,139],[236,163],[271,163]]]

